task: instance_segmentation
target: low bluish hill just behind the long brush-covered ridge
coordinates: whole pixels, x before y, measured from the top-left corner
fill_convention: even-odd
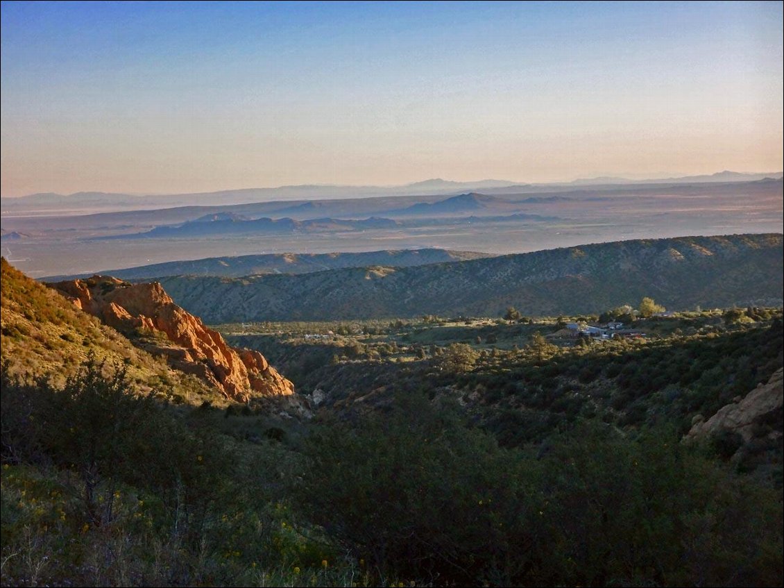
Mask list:
[[[122,270],[102,270],[98,273],[134,281],[176,275],[241,278],[258,274],[307,274],[343,267],[373,265],[408,267],[445,261],[476,260],[490,256],[489,253],[450,249],[397,249],[361,253],[267,253],[255,256],[210,257],[204,260],[153,263]],[[88,278],[89,275],[92,274],[53,276],[46,279],[57,281],[67,278]]]

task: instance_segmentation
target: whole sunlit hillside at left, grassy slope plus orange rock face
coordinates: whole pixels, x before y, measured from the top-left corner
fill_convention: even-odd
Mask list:
[[[163,388],[192,402],[293,394],[262,354],[229,347],[158,284],[96,277],[55,287],[2,259],[2,358],[10,373],[50,373],[61,382],[94,357],[126,365],[137,390]]]

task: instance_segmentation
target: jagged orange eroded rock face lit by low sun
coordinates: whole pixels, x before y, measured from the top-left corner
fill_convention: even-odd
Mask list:
[[[229,347],[219,332],[177,306],[158,282],[132,285],[93,276],[49,286],[118,331],[157,336],[157,342],[141,346],[165,356],[173,368],[207,380],[232,400],[294,394],[293,384],[262,354]]]

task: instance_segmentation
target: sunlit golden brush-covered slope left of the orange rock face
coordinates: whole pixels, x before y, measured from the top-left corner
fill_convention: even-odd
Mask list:
[[[154,389],[192,402],[219,397],[217,390],[169,368],[59,293],[27,278],[5,258],[0,292],[2,360],[12,373],[31,378],[48,374],[55,383],[62,383],[92,355],[107,365],[125,365],[138,391]]]

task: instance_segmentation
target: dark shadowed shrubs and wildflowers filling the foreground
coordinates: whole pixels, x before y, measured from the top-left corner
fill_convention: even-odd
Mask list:
[[[287,449],[127,394],[122,369],[3,374],[4,584],[781,583],[780,488],[667,426],[503,448],[403,394]]]

